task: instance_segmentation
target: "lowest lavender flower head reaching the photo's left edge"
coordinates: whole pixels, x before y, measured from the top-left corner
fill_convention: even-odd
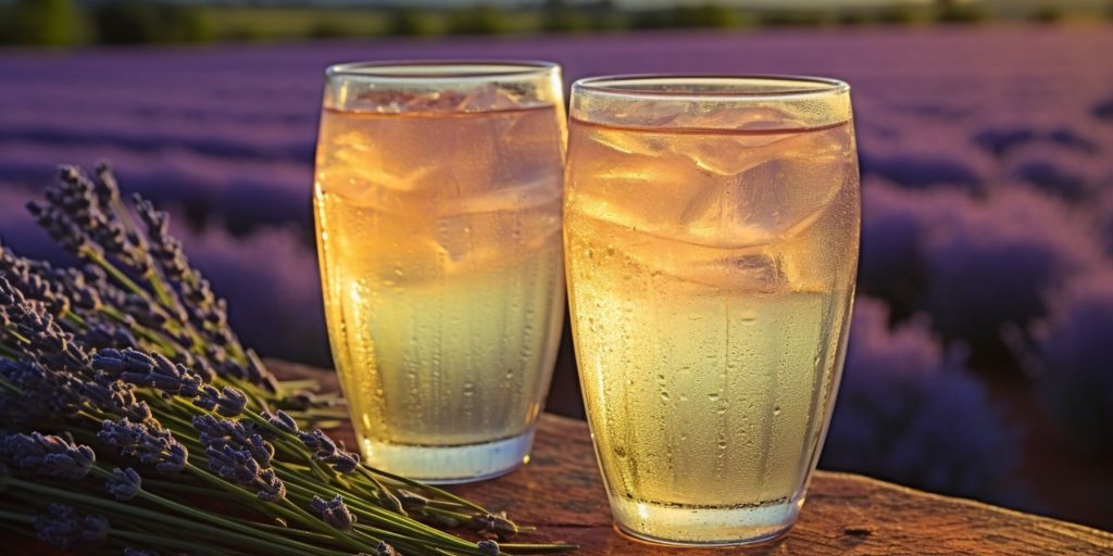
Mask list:
[[[39,433],[6,436],[3,455],[16,467],[31,469],[40,476],[65,479],[85,477],[96,460],[92,448],[88,446]]]

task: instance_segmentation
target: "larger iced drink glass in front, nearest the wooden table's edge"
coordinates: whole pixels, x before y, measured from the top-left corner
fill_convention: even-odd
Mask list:
[[[618,527],[747,544],[796,520],[858,258],[849,88],[781,77],[572,87],[565,262]]]

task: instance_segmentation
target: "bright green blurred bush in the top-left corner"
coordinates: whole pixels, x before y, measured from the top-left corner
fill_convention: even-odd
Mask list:
[[[65,47],[85,41],[86,23],[72,0],[19,0],[0,20],[0,42]]]

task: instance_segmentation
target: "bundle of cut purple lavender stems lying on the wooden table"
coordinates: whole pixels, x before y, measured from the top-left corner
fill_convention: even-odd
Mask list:
[[[128,556],[575,548],[511,542],[526,527],[333,441],[343,407],[239,342],[167,214],[106,165],[45,197],[29,210],[83,266],[0,245],[0,528]]]

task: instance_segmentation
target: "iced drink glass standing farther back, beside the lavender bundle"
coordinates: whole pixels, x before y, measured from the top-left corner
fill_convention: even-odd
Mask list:
[[[314,207],[359,446],[433,483],[528,457],[563,318],[560,68],[328,68]]]

